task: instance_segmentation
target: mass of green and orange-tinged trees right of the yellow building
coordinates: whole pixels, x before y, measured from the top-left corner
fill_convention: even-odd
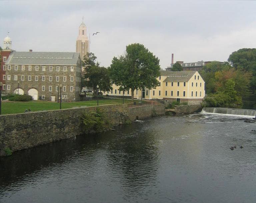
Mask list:
[[[211,62],[199,72],[208,106],[241,107],[256,99],[256,49],[239,49],[227,62]]]

